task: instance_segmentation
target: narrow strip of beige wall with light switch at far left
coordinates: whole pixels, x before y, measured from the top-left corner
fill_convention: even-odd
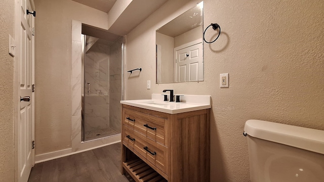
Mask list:
[[[9,34],[14,37],[14,1],[0,0],[0,181],[14,181],[14,58]]]

